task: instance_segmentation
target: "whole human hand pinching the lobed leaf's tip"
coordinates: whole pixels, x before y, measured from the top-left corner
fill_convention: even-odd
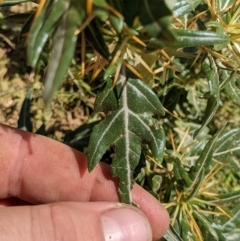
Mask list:
[[[49,138],[0,125],[1,240],[150,241],[166,232],[163,206],[135,184],[141,211],[119,203],[117,180],[100,163]]]

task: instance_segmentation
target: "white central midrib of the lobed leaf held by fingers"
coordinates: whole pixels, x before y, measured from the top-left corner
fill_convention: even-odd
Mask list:
[[[124,138],[125,138],[125,150],[126,150],[126,154],[125,154],[125,158],[126,158],[126,168],[127,168],[127,189],[128,189],[128,193],[130,196],[130,203],[132,203],[132,197],[130,195],[131,193],[131,165],[130,165],[130,148],[129,148],[129,109],[128,109],[128,102],[127,102],[127,83],[126,83],[126,73],[124,73],[125,71],[123,71],[123,74],[121,75],[121,79],[120,82],[122,84],[122,103],[123,103],[123,115],[124,115]]]

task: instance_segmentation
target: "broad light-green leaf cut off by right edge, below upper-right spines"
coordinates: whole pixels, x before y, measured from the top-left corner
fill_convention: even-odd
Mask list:
[[[238,106],[240,106],[240,77],[239,74],[233,73],[231,76],[230,81],[225,85],[224,90],[228,97]]]

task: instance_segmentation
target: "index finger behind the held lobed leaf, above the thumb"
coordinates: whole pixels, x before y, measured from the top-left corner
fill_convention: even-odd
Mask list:
[[[119,201],[117,179],[98,164],[89,173],[84,154],[50,138],[0,125],[0,199],[18,197],[31,203]],[[134,185],[133,201],[148,217],[153,237],[166,231],[166,210]]]

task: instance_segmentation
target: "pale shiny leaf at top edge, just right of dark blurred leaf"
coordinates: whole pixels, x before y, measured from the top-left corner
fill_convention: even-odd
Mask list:
[[[177,1],[173,7],[173,15],[176,17],[183,16],[192,11],[195,11],[196,7],[201,3],[201,0],[183,0]]]

